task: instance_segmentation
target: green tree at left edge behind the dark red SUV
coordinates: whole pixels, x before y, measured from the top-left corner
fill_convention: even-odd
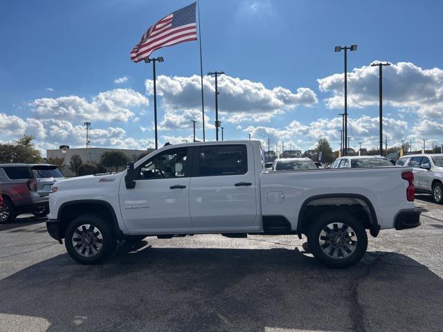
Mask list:
[[[42,161],[42,154],[35,149],[32,135],[24,135],[12,143],[0,144],[0,163],[35,164]]]

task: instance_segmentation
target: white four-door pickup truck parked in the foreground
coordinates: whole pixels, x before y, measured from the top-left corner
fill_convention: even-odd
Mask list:
[[[55,183],[47,229],[81,264],[148,236],[306,234],[316,259],[343,268],[365,254],[366,230],[420,225],[413,200],[405,167],[264,172],[260,142],[195,142]]]

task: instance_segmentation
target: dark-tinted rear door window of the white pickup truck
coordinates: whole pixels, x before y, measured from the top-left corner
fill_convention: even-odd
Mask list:
[[[246,145],[200,148],[199,176],[236,175],[248,172]]]

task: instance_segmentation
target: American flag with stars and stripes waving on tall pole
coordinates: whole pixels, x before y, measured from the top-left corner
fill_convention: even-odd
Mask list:
[[[165,46],[197,40],[195,5],[192,3],[176,10],[147,29],[140,43],[132,49],[132,61],[139,62],[149,57],[154,50]]]

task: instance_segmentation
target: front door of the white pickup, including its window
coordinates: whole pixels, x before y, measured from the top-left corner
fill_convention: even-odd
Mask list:
[[[134,169],[136,185],[120,184],[120,210],[130,231],[145,234],[192,228],[189,212],[191,148],[159,152]]]

